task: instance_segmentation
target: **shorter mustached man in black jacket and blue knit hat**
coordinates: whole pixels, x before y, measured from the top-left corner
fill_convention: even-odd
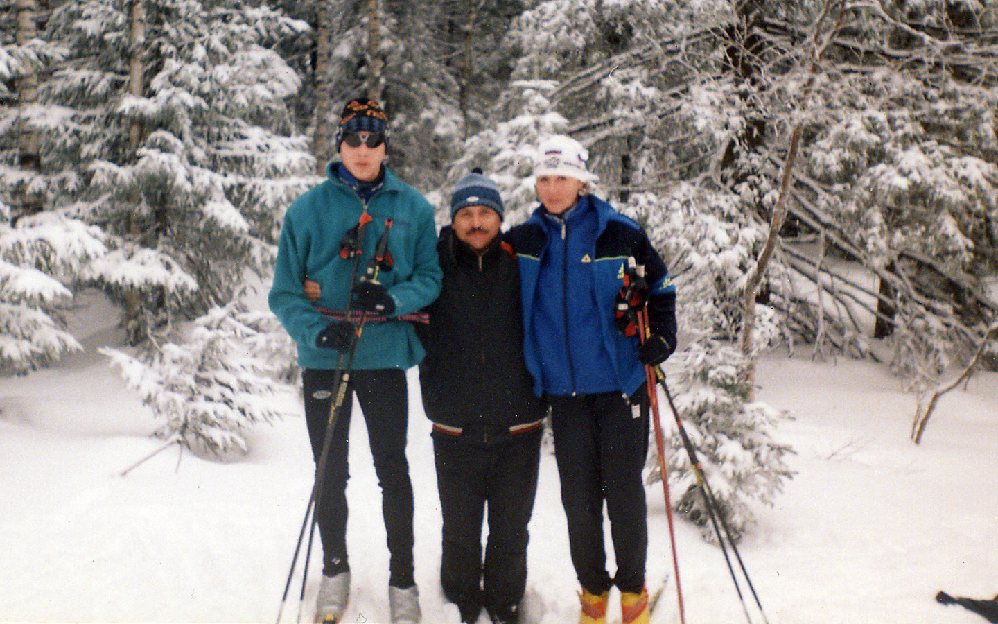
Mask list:
[[[502,213],[495,183],[479,170],[456,185],[419,374],[433,422],[444,595],[462,622],[477,621],[484,607],[495,624],[519,621],[546,412],[523,361],[520,277],[499,232]]]

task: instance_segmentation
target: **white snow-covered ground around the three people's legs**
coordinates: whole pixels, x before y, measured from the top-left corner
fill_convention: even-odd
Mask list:
[[[0,379],[0,621],[273,622],[311,486],[302,418],[253,431],[240,460],[207,461],[175,446],[122,476],[162,441],[149,437],[157,422],[96,352],[120,338],[115,314],[97,298],[80,303],[74,329],[85,352]],[[771,354],[758,380],[759,399],[793,415],[779,432],[796,451],[789,461],[797,471],[776,504],[759,509],[740,547],[768,621],[984,622],[933,598],[940,589],[978,598],[998,592],[998,375],[978,374],[966,391],[947,394],[919,446],[908,437],[914,397],[877,364]],[[424,621],[456,622],[437,580],[429,426],[411,389]],[[297,396],[287,401],[300,413]],[[354,592],[344,621],[385,622],[380,498],[363,419],[352,426]],[[542,459],[531,524],[531,624],[578,617],[553,459]],[[649,488],[649,501],[654,587],[672,559],[661,487]],[[680,522],[677,530],[687,621],[745,622],[721,551],[697,527]],[[313,560],[306,603],[318,573]],[[284,621],[297,615],[299,578]],[[663,596],[674,601],[674,587]],[[674,621],[673,605],[662,606],[655,621]]]

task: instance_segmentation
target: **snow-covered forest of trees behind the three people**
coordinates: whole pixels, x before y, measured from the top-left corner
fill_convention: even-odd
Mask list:
[[[0,365],[79,349],[98,289],[168,442],[240,452],[280,416],[293,347],[250,287],[361,93],[440,224],[472,167],[515,225],[538,139],[588,147],[679,285],[678,404],[736,530],[790,476],[761,350],[889,362],[916,441],[998,355],[994,0],[6,0],[0,37]]]

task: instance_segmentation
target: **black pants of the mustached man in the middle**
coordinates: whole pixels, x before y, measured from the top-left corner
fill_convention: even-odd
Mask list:
[[[541,429],[477,442],[433,433],[443,512],[440,584],[458,605],[519,603],[527,584],[527,523],[537,493]],[[481,437],[478,437],[481,440]],[[482,561],[482,521],[488,540]]]

